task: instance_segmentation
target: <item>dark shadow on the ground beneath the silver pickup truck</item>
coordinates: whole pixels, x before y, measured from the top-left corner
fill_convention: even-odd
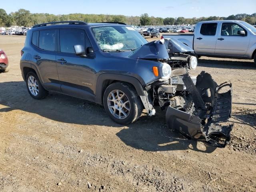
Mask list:
[[[256,69],[254,62],[239,61],[239,60],[210,60],[210,59],[198,59],[198,66],[211,67],[211,68],[225,68],[225,69]]]

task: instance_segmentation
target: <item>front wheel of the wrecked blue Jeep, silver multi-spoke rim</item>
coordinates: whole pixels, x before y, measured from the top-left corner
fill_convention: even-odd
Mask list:
[[[103,104],[108,116],[118,124],[136,121],[143,110],[136,90],[131,85],[122,82],[110,84],[106,88]]]

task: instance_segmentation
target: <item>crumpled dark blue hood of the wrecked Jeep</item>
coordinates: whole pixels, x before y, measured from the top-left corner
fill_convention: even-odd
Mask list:
[[[144,44],[128,57],[136,59],[168,59],[169,54],[194,50],[176,39],[161,39]]]

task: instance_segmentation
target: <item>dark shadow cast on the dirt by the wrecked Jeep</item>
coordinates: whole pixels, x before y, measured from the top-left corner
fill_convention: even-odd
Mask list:
[[[120,140],[140,150],[156,152],[190,149],[210,153],[216,149],[202,142],[187,140],[181,134],[169,130],[165,123],[165,111],[161,110],[154,117],[142,114],[135,123],[122,126],[110,120],[104,108],[93,102],[57,93],[50,93],[43,100],[35,100],[28,94],[25,82],[0,83],[0,104],[5,106],[0,108],[0,114],[22,110],[69,124],[120,127],[122,129],[116,134]],[[26,118],[30,120],[33,117]],[[198,143],[203,147],[198,148]]]

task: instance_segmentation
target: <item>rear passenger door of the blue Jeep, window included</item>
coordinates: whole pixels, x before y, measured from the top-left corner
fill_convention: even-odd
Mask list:
[[[49,89],[60,91],[56,67],[56,34],[55,29],[33,31],[34,51],[31,62],[37,67],[42,83],[46,84]]]

